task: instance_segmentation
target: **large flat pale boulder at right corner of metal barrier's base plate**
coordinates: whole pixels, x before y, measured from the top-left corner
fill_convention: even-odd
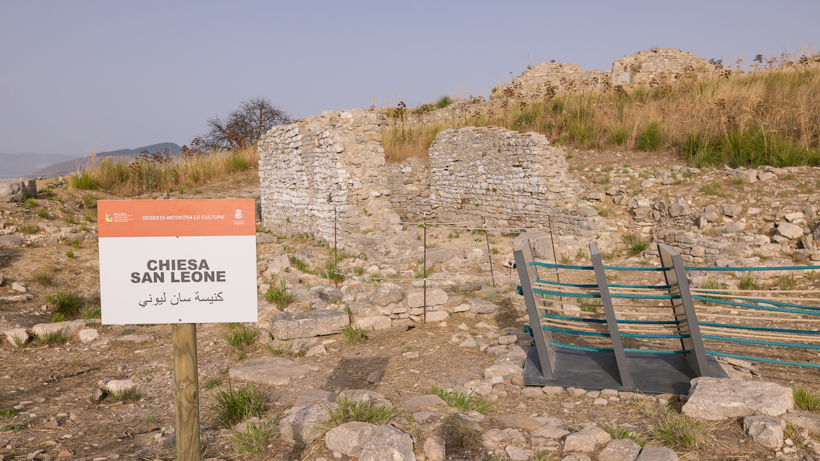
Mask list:
[[[754,414],[780,416],[793,408],[791,389],[773,382],[696,377],[691,381],[683,414],[718,420]]]

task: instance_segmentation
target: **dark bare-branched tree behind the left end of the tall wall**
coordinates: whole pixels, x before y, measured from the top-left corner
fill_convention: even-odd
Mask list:
[[[239,109],[225,120],[216,116],[207,120],[208,133],[201,140],[207,149],[236,149],[257,142],[271,127],[285,124],[290,115],[274,106],[265,97],[240,102]]]

